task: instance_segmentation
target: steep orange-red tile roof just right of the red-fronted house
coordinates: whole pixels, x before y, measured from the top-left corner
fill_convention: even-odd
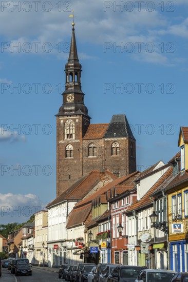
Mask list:
[[[171,179],[172,173],[173,168],[171,166],[140,200],[135,200],[133,205],[131,205],[131,207],[128,208],[125,213],[131,212],[133,210],[140,210],[143,207],[152,204],[152,200],[149,198],[149,196],[151,196],[152,193],[159,189],[159,187],[161,189],[163,186],[165,186],[168,183],[168,180]]]

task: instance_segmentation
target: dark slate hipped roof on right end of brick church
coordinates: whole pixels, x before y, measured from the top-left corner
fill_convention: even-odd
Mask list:
[[[103,138],[130,137],[135,140],[133,133],[124,114],[115,114],[112,116],[109,126]]]

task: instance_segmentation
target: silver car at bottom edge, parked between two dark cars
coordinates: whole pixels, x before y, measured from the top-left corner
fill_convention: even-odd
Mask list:
[[[135,282],[170,282],[176,271],[161,269],[144,269],[139,274]]]

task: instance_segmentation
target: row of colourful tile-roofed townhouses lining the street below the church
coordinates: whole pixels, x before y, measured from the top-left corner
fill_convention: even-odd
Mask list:
[[[17,255],[49,267],[84,261],[188,271],[188,128],[178,146],[166,165],[81,177],[35,214],[34,226],[14,231]]]

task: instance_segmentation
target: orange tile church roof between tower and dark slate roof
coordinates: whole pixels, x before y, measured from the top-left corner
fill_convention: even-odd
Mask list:
[[[92,124],[89,125],[83,139],[101,139],[109,124]]]

